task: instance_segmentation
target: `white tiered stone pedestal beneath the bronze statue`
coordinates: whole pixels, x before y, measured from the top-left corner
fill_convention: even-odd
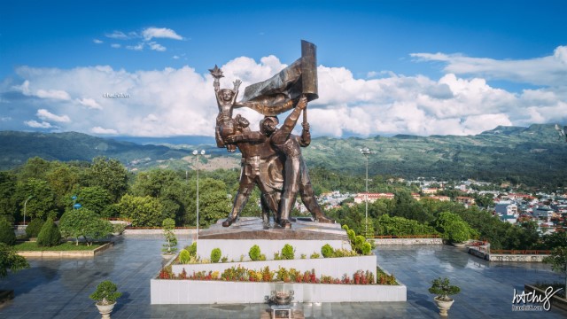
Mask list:
[[[281,252],[283,245],[292,245],[295,259],[274,260],[274,253]],[[335,249],[348,249],[350,244],[346,231],[339,224],[317,222],[292,222],[291,230],[280,228],[264,230],[260,218],[242,218],[229,228],[217,222],[198,237],[197,251],[203,259],[209,259],[214,248],[221,249],[221,255],[229,262],[173,264],[175,275],[183,269],[188,275],[205,271],[222,273],[229,268],[243,267],[260,271],[269,267],[294,268],[303,273],[314,271],[315,276],[352,277],[359,270],[372,272],[377,278],[375,255],[341,258],[323,258],[321,247],[325,244]],[[259,245],[267,261],[250,261],[248,252],[252,245]],[[311,259],[312,253],[321,255]],[[301,258],[302,254],[305,258]],[[228,282],[221,280],[167,280],[151,279],[151,304],[242,304],[263,303],[271,292],[276,291],[276,282]],[[407,289],[403,284],[298,284],[288,283],[293,290],[293,303],[320,302],[368,302],[406,301]]]

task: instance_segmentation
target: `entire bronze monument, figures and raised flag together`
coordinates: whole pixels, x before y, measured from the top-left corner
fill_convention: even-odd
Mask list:
[[[219,107],[216,118],[215,140],[218,147],[229,152],[236,148],[242,152],[240,186],[232,211],[222,226],[229,227],[237,220],[253,187],[261,191],[262,220],[269,227],[269,211],[274,212],[276,224],[291,228],[290,213],[299,193],[315,222],[334,222],[325,214],[315,199],[307,166],[300,147],[311,143],[307,123],[307,102],[318,98],[316,47],[301,42],[301,58],[270,79],[252,84],[245,89],[244,97],[237,102],[240,80],[234,89],[221,89],[223,76],[218,66],[209,70],[214,77],[214,91]],[[232,118],[234,108],[249,107],[265,116],[260,131],[252,132],[248,121],[239,114]],[[294,110],[280,128],[276,115]],[[301,136],[291,134],[303,113]]]

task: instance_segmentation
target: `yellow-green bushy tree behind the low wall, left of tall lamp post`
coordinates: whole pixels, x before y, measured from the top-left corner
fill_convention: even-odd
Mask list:
[[[163,206],[157,198],[124,195],[118,204],[120,216],[131,219],[135,227],[159,227],[166,218],[174,216],[164,214]]]

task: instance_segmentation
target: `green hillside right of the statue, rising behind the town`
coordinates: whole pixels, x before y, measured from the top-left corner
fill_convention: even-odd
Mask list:
[[[304,152],[309,167],[361,175],[368,147],[369,174],[405,178],[474,178],[567,186],[567,143],[554,125],[497,127],[476,136],[315,138]]]

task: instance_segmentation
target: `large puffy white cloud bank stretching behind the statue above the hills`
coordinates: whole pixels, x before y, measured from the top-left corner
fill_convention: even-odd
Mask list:
[[[563,47],[555,55],[561,60]],[[442,54],[438,58],[444,57],[451,58]],[[242,97],[247,85],[264,81],[285,66],[275,56],[259,62],[235,58],[221,66],[225,75],[221,88],[232,88],[232,82],[241,79]],[[29,98],[29,107],[45,110],[43,117],[37,113],[45,124],[30,121],[27,126],[47,126],[59,120],[60,130],[92,134],[214,136],[218,108],[213,78],[206,71],[200,74],[190,66],[136,72],[110,66],[22,66],[17,73],[22,82],[12,89]],[[494,88],[482,76],[371,75],[376,78],[359,79],[345,67],[318,66],[320,98],[307,107],[314,136],[470,135],[498,125],[567,121],[567,89],[558,89],[558,84],[517,93]],[[66,92],[66,97],[74,99],[52,99],[49,108],[39,106],[31,98],[38,97],[39,90]],[[105,93],[120,94],[102,98]],[[237,113],[251,121],[252,129],[258,129],[259,113],[246,108],[235,109],[234,115]],[[62,121],[66,119],[69,121]]]

